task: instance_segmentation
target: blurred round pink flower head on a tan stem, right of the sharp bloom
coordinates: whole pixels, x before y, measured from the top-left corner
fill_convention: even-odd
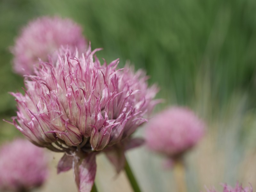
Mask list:
[[[203,132],[203,122],[191,110],[172,107],[149,121],[146,142],[150,149],[174,158],[193,147]]]

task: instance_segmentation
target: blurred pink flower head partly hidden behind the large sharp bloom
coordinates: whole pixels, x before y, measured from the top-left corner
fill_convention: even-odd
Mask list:
[[[59,17],[41,17],[32,20],[21,31],[12,48],[13,68],[16,73],[29,75],[38,58],[48,61],[48,56],[56,61],[55,52],[61,46],[84,52],[87,42],[82,35],[82,28],[70,19]]]

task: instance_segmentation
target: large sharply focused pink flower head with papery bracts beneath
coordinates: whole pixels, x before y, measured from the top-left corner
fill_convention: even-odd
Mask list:
[[[95,154],[104,149],[116,164],[115,157],[137,146],[130,135],[156,104],[157,88],[148,87],[143,71],[117,69],[118,60],[101,65],[93,60],[96,51],[89,47],[72,57],[61,50],[56,65],[41,62],[36,76],[25,80],[25,95],[12,93],[18,106],[13,124],[33,143],[66,152],[58,172],[73,163],[80,191],[91,190]]]

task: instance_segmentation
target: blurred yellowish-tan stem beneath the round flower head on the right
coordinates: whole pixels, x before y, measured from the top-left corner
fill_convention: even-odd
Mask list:
[[[177,191],[186,192],[186,173],[183,162],[178,159],[174,162],[173,174],[176,181]]]

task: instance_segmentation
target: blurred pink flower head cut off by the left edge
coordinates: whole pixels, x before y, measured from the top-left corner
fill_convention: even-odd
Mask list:
[[[48,175],[43,148],[16,139],[0,148],[0,190],[22,191],[41,186]]]

